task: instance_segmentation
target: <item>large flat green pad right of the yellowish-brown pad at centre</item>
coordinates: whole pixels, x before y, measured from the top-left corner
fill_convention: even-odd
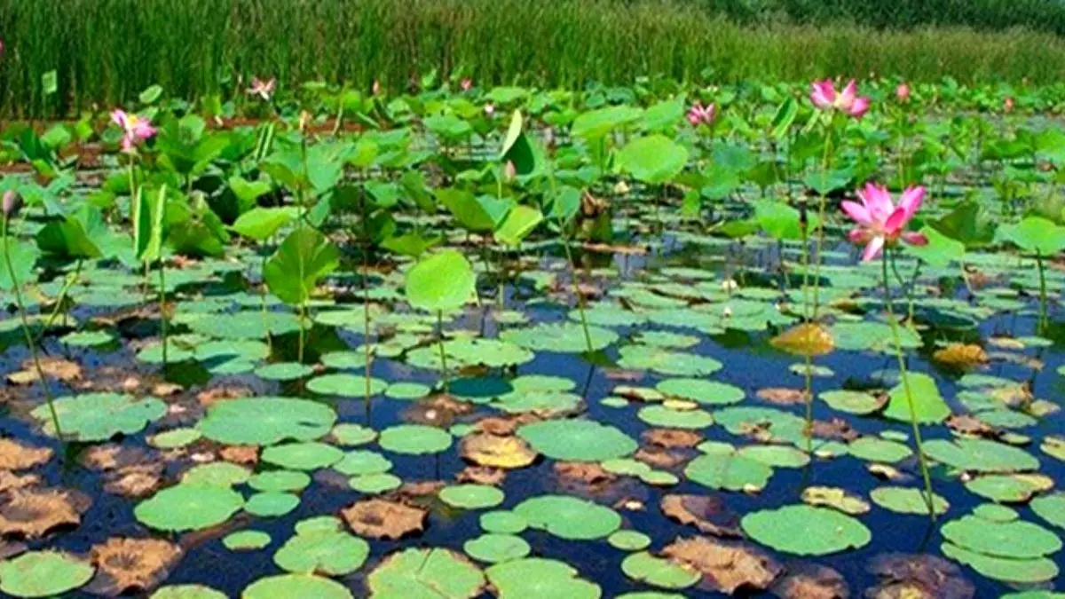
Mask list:
[[[639,447],[635,439],[619,428],[585,419],[525,424],[518,430],[518,436],[545,456],[567,462],[603,462],[624,457]]]

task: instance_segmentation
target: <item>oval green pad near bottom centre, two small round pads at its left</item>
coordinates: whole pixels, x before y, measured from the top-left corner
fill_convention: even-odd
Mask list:
[[[569,540],[590,540],[609,536],[621,528],[621,515],[591,501],[564,495],[526,499],[514,514],[530,527]]]

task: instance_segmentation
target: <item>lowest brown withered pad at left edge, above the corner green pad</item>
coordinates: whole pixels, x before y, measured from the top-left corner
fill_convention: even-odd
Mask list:
[[[0,500],[0,534],[38,538],[61,527],[77,527],[89,499],[77,491],[24,488]]]

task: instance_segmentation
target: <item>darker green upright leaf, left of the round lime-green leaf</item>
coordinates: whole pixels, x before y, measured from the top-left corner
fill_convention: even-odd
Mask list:
[[[302,226],[289,233],[266,261],[263,276],[274,295],[296,306],[310,301],[318,280],[338,265],[337,247],[317,229]]]

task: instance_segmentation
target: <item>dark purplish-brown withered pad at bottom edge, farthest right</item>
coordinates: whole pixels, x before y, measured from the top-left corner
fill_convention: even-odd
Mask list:
[[[971,599],[972,583],[952,562],[929,554],[884,553],[866,567],[881,579],[866,589],[869,599]]]

